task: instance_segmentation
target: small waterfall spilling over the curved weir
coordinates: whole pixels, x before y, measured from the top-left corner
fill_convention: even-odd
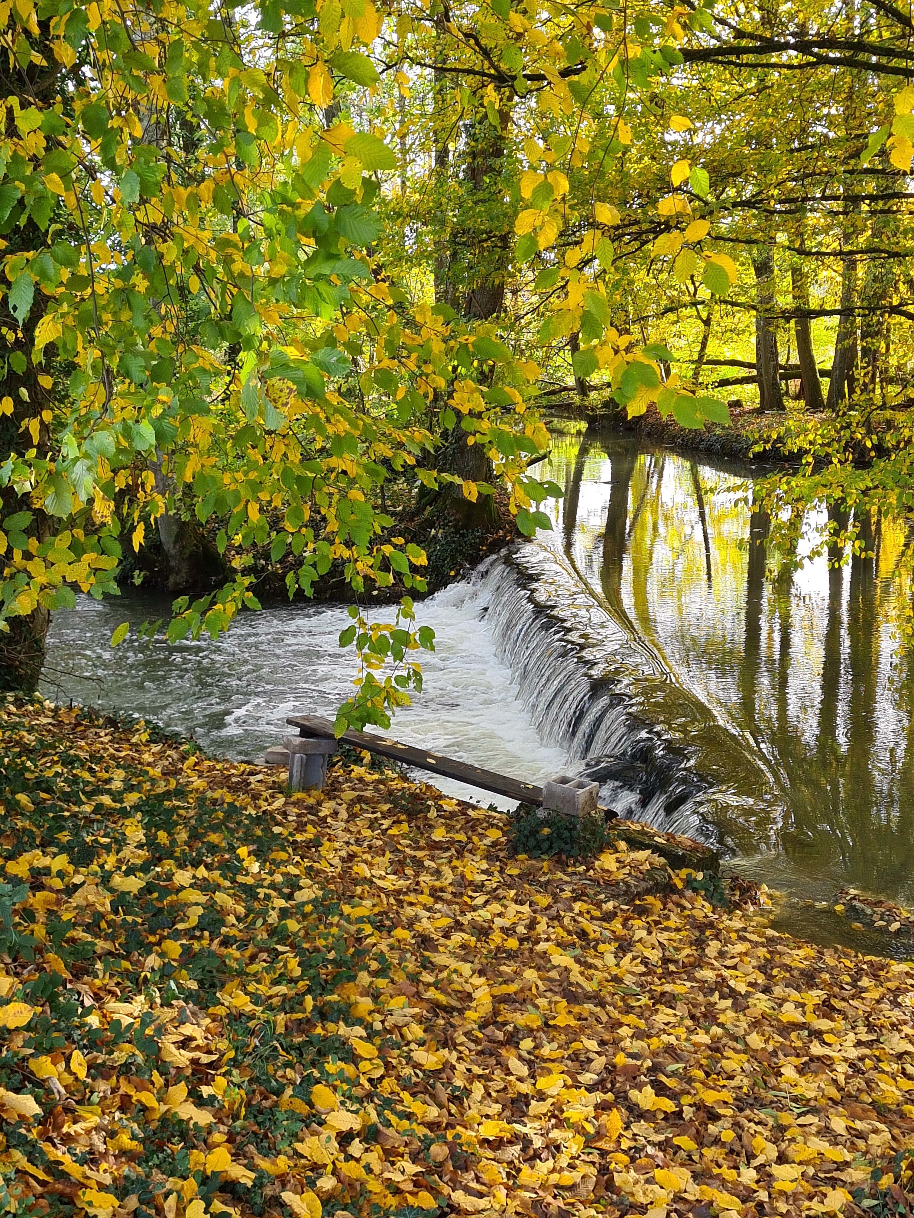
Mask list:
[[[630,637],[561,552],[520,543],[487,565],[481,592],[544,744],[567,749],[603,804],[724,849],[770,838],[780,799],[765,759]]]

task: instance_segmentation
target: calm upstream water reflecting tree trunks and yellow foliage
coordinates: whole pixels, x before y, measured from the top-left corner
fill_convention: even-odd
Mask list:
[[[749,465],[591,430],[557,436],[551,462],[567,491],[552,544],[773,776],[765,815],[747,790],[721,826],[743,865],[808,895],[849,883],[914,901],[914,664],[897,632],[910,586],[893,579],[904,527],[857,521],[865,553],[836,566],[834,544],[809,557],[827,525],[821,508],[796,554],[775,551],[753,503],[762,471]],[[832,513],[840,527],[848,519]],[[734,762],[736,795],[742,781]],[[752,834],[765,850],[754,860]]]

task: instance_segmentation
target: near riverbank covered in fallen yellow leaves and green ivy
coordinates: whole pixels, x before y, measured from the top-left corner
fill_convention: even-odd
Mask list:
[[[647,850],[512,857],[503,816],[390,771],[290,797],[50,704],[0,710],[0,790],[30,1212],[853,1213],[874,1170],[905,1212],[907,965],[684,873],[632,901]]]

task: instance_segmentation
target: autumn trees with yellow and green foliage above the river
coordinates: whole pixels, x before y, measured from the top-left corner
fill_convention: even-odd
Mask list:
[[[0,688],[155,535],[174,591],[208,571],[173,639],[256,608],[264,561],[290,594],[339,570],[340,722],[385,723],[433,646],[402,521],[547,526],[558,401],[758,407],[799,458],[775,541],[817,501],[840,546],[909,513],[904,5],[4,0],[0,29]]]

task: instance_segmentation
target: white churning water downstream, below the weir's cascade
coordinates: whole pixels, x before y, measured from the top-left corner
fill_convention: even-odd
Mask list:
[[[417,620],[435,631],[435,652],[422,653],[423,692],[397,713],[390,734],[540,783],[562,771],[565,753],[541,743],[511,669],[496,655],[486,590],[485,579],[467,581],[417,605]],[[389,621],[394,611],[378,605],[370,618]],[[338,643],[350,624],[341,605],[245,613],[216,641],[139,642],[139,625],[167,613],[168,602],[154,597],[101,604],[84,597],[76,609],[55,614],[44,692],[155,720],[210,753],[244,759],[279,743],[289,732],[286,716],[333,717],[352,693],[353,653]],[[126,620],[130,636],[112,649],[111,633]],[[463,799],[511,806],[445,778],[435,784]]]

